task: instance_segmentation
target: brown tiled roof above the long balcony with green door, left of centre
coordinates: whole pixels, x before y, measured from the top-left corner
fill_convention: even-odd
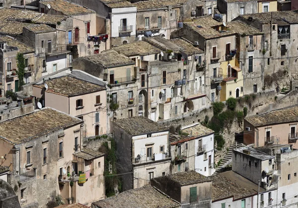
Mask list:
[[[104,67],[113,67],[113,66],[115,67],[115,66],[121,66],[126,64],[127,65],[136,64],[136,62],[134,62],[133,60],[120,55],[118,52],[116,52],[113,49],[101,52],[100,54],[84,56],[82,58],[93,61]]]

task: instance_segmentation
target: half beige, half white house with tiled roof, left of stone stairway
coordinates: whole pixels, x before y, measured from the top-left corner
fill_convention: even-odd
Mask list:
[[[170,134],[170,151],[172,174],[193,170],[211,176],[215,172],[214,131],[201,124],[183,129],[181,135]]]

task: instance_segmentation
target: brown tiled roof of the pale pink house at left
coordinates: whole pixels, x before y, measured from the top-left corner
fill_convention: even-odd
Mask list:
[[[48,85],[48,92],[65,95],[68,97],[84,95],[105,90],[104,87],[80,80],[70,76],[58,77],[44,81],[42,84],[34,85],[35,87],[44,88],[44,84]]]

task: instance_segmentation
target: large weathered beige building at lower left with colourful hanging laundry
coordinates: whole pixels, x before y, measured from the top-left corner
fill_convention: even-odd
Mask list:
[[[45,207],[53,197],[65,193],[73,196],[65,198],[66,203],[87,204],[104,198],[102,153],[83,149],[82,123],[81,119],[52,108],[0,123],[0,152],[6,154],[2,165],[11,171],[8,181],[22,207]],[[78,184],[78,175],[89,170],[95,175],[89,174],[87,181]]]

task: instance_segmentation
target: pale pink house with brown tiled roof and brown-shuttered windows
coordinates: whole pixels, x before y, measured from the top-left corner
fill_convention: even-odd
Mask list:
[[[84,137],[107,133],[106,89],[103,86],[62,76],[32,87],[36,102],[43,107],[53,107],[82,119]]]

